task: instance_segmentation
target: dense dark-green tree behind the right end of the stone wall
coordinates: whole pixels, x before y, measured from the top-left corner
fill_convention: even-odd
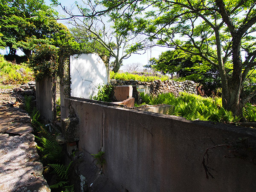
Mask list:
[[[162,52],[158,59],[151,59],[151,67],[163,74],[176,74],[177,78],[191,80],[204,85],[207,95],[221,87],[218,69],[202,62],[198,55],[188,54],[180,49]],[[208,91],[209,90],[209,91]]]

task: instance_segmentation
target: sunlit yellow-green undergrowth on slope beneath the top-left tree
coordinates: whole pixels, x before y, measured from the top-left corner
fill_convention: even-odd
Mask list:
[[[23,68],[22,72],[20,69]],[[27,64],[15,64],[5,61],[3,55],[0,55],[0,83],[7,84],[21,84],[27,83],[34,79],[32,70]]]

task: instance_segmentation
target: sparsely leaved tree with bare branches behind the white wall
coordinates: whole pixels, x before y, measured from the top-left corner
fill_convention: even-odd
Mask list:
[[[108,51],[109,56],[114,58],[110,67],[115,73],[121,67],[123,59],[145,48],[145,38],[138,38],[138,34],[132,32],[134,31],[132,22],[127,19],[122,20],[119,13],[111,12],[108,14],[108,12],[104,12],[105,15],[90,16],[99,10],[99,5],[90,0],[83,6],[76,4],[76,7],[81,15],[73,15],[72,12],[63,7],[70,16],[70,23],[75,28],[73,29],[74,35],[77,39],[90,39],[87,42],[93,41],[101,44]],[[106,24],[107,22],[108,24]],[[120,26],[126,26],[125,30],[119,30]]]

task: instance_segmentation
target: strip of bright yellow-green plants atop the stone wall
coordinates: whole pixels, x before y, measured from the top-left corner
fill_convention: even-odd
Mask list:
[[[166,81],[169,79],[168,76],[140,76],[131,73],[114,73],[113,71],[110,72],[110,79],[119,79],[119,80],[137,80],[143,82],[152,82],[155,80],[160,79],[161,81]]]

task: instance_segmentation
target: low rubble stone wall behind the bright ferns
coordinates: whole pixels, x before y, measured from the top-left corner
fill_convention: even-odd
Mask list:
[[[118,85],[136,85],[141,88],[144,87],[144,90],[147,88],[150,89],[150,94],[157,96],[160,93],[174,93],[175,96],[178,96],[180,92],[194,93],[197,94],[196,83],[194,81],[172,81],[172,80],[156,80],[153,82],[140,82],[136,80],[122,81],[111,79],[110,83],[113,86]]]

